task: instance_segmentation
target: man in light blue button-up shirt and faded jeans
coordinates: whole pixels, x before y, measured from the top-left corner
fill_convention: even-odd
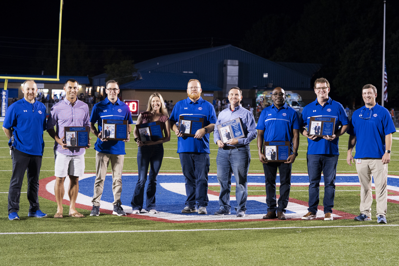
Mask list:
[[[233,173],[235,178],[235,199],[237,201],[237,206],[234,209],[236,217],[244,217],[248,197],[247,175],[249,163],[251,162],[249,143],[256,138],[255,119],[252,113],[242,107],[242,91],[238,87],[230,89],[228,100],[230,102],[229,108],[219,113],[215,126],[241,118],[245,137],[232,138],[230,132],[227,132],[225,133],[227,142],[223,143],[219,130],[213,131],[213,141],[219,147],[216,165],[217,181],[220,184],[220,208],[214,215],[230,214],[231,174]]]

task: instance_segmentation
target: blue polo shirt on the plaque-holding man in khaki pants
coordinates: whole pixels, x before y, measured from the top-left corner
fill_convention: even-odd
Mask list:
[[[133,124],[132,115],[130,114],[129,106],[117,99],[115,104],[112,104],[108,97],[105,100],[96,103],[91,110],[90,123],[98,123],[98,131],[102,131],[103,119],[112,120],[128,120],[129,124]],[[102,141],[97,138],[94,149],[101,153],[107,154],[126,154],[125,142],[121,140]]]

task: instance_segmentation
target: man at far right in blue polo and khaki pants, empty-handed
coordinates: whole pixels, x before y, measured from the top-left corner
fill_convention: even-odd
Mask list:
[[[388,163],[391,161],[392,134],[396,132],[389,111],[376,102],[377,88],[367,84],[362,89],[365,106],[356,110],[348,134],[347,163],[356,170],[360,182],[360,215],[355,221],[371,221],[372,176],[376,187],[377,222],[387,223]],[[356,145],[355,157],[352,156]]]

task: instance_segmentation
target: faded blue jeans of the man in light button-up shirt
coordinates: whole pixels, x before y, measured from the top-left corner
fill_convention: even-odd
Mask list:
[[[220,184],[219,206],[220,210],[230,212],[230,191],[231,174],[235,178],[235,199],[237,206],[235,211],[246,211],[246,200],[248,197],[247,175],[249,163],[251,162],[251,153],[249,146],[240,147],[233,150],[217,150],[217,181]]]

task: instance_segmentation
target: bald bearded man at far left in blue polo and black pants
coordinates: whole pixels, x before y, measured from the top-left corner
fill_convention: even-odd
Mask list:
[[[39,175],[44,150],[46,107],[36,101],[37,86],[31,80],[22,84],[23,98],[8,107],[3,131],[8,137],[12,158],[12,175],[8,190],[8,219],[19,220],[19,197],[27,170],[28,217],[45,218],[39,208]]]

